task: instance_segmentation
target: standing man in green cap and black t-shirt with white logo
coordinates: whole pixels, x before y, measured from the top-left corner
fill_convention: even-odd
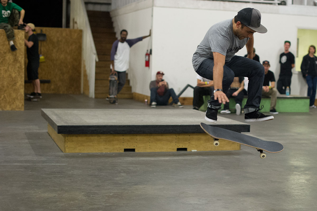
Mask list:
[[[277,90],[281,94],[286,93],[286,87],[289,87],[291,93],[292,68],[295,67],[295,57],[289,52],[291,42],[284,42],[284,52],[280,54],[281,72],[277,81]]]

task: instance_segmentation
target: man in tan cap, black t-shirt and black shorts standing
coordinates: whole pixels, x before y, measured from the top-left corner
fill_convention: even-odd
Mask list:
[[[39,56],[39,41],[37,36],[33,33],[35,31],[35,26],[33,23],[28,23],[25,26],[25,32],[29,35],[28,40],[24,40],[26,48],[26,54],[28,57],[28,65],[26,67],[28,80],[32,81],[34,92],[27,95],[30,98],[35,96],[42,98],[40,80],[38,76],[38,68],[40,66],[40,56]]]

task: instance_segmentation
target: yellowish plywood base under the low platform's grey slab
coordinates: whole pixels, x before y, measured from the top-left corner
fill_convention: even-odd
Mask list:
[[[240,150],[241,145],[220,139],[219,146],[206,133],[182,134],[58,134],[48,124],[48,133],[65,153],[173,152],[181,150]]]

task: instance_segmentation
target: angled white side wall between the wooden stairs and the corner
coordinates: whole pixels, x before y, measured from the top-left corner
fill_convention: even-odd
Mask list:
[[[152,0],[141,1],[141,3],[132,3],[132,10],[123,8],[111,11],[116,37],[120,38],[120,31],[128,31],[127,39],[133,39],[149,35],[152,27]],[[134,8],[137,8],[136,10]],[[132,86],[132,92],[149,94],[149,83],[151,81],[151,63],[150,68],[145,67],[146,50],[151,48],[152,37],[147,37],[138,42],[130,49],[130,64],[128,69],[128,78]],[[150,58],[150,62],[152,57]]]

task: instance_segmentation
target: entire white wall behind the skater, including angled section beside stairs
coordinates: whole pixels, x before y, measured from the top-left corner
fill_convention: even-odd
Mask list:
[[[149,1],[141,1],[149,5]],[[142,7],[139,3],[139,6]],[[144,7],[144,6],[143,6]],[[211,25],[233,18],[237,11],[245,7],[254,7],[262,13],[262,24],[268,33],[256,33],[256,53],[261,62],[268,60],[276,80],[279,74],[279,54],[283,52],[285,40],[292,42],[290,51],[296,56],[297,29],[315,29],[317,8],[309,6],[276,6],[252,3],[233,3],[200,0],[154,0],[152,27],[151,68],[144,67],[144,54],[148,41],[136,44],[131,48],[130,70],[133,71],[131,85],[133,92],[149,95],[148,84],[155,79],[157,71],[165,73],[165,80],[176,93],[186,84],[196,85],[196,73],[191,64],[191,57],[197,45],[203,39]],[[116,32],[127,28],[129,38],[146,35],[151,28],[151,8],[136,9],[137,3],[125,6],[116,11],[114,17]],[[128,28],[129,27],[129,28]],[[148,39],[148,38],[147,38]],[[246,54],[241,49],[237,55]],[[300,65],[300,64],[296,64]],[[294,69],[295,72],[295,69]],[[292,77],[292,94],[306,95],[307,86],[301,74],[296,72]],[[182,97],[192,97],[188,89]]]

